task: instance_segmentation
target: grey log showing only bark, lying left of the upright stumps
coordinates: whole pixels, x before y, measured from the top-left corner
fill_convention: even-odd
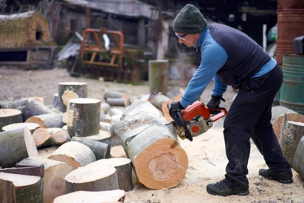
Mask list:
[[[33,99],[24,107],[22,111],[22,118],[24,121],[26,121],[31,116],[42,114],[54,114],[54,112],[41,104],[39,101]]]

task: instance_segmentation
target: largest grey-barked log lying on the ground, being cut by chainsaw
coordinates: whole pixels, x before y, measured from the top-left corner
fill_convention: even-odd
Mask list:
[[[111,131],[120,139],[132,160],[138,180],[151,189],[172,188],[184,178],[188,157],[158,109],[136,100],[113,120]]]

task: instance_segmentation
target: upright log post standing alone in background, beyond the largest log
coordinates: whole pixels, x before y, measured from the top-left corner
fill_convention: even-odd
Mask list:
[[[169,60],[149,60],[150,92],[165,92],[169,80]]]

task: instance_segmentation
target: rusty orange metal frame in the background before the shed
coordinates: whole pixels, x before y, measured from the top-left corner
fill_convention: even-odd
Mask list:
[[[97,41],[97,45],[96,44],[87,44],[86,43],[86,36],[88,35],[88,33],[92,32],[96,41]],[[114,37],[116,46],[116,49],[111,50],[110,49],[110,53],[112,54],[111,60],[110,62],[100,62],[100,61],[94,61],[95,57],[97,55],[97,53],[105,53],[105,47],[104,45],[101,43],[97,33],[101,33],[101,34],[111,34]],[[119,37],[119,38],[118,38]],[[94,64],[94,65],[104,65],[104,66],[111,66],[111,67],[122,67],[123,66],[123,57],[126,53],[126,51],[124,50],[124,40],[125,37],[123,35],[122,32],[120,31],[113,31],[113,30],[106,30],[105,28],[101,28],[101,29],[92,29],[92,28],[88,28],[85,29],[84,33],[83,33],[83,41],[81,44],[81,60],[82,62],[86,63],[86,64]],[[113,47],[111,47],[113,48]],[[85,60],[85,52],[91,52],[92,53],[92,57],[90,60]],[[116,59],[118,58],[118,62],[115,63]]]

